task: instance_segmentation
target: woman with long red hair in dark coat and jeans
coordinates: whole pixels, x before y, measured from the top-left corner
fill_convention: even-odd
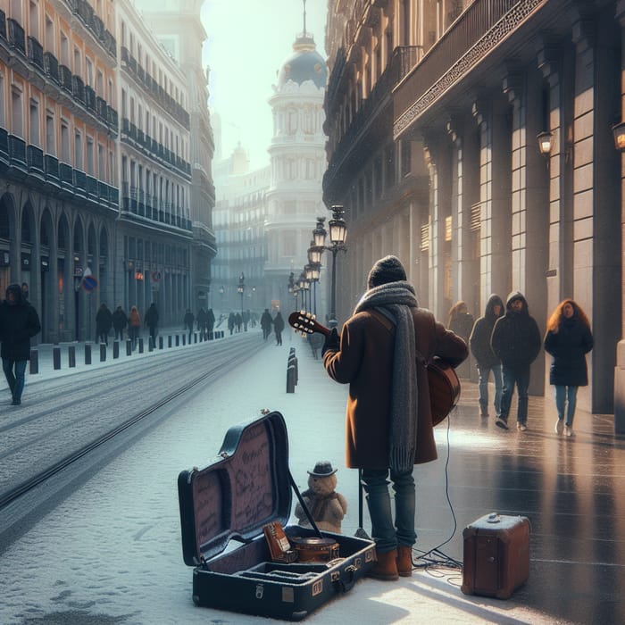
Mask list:
[[[558,420],[555,433],[573,436],[573,418],[578,387],[588,384],[586,354],[593,348],[593,335],[586,312],[572,299],[558,304],[547,321],[545,351],[554,356],[549,370],[549,383],[555,388]],[[566,404],[566,421],[564,405]]]

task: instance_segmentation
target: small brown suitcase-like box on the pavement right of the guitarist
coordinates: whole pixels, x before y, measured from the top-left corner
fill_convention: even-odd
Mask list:
[[[529,519],[492,512],[462,531],[465,595],[507,599],[529,577]]]

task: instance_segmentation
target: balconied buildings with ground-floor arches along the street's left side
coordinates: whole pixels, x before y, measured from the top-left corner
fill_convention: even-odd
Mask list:
[[[102,302],[144,312],[154,300],[167,324],[207,296],[215,248],[205,33],[198,26],[187,37],[194,61],[175,59],[137,4],[0,6],[0,292],[29,284],[43,342],[94,339]],[[177,15],[199,25],[200,5]]]

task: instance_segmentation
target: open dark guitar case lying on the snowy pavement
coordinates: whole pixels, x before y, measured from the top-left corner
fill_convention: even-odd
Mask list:
[[[312,519],[312,529],[287,525],[292,487],[296,489],[288,468],[287,427],[279,412],[230,428],[212,462],[180,472],[182,553],[194,567],[197,605],[299,621],[371,569],[375,544],[368,537],[321,532]],[[263,529],[275,521],[291,543],[332,538],[338,557],[329,562],[272,561]],[[362,526],[362,499],[359,521]]]

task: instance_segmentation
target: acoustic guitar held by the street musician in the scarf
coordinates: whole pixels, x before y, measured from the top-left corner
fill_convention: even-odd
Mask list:
[[[330,329],[322,326],[310,312],[291,312],[288,315],[289,325],[302,335],[319,332],[328,336]],[[460,380],[454,367],[442,358],[434,357],[427,363],[429,404],[432,413],[432,425],[444,421],[460,399]]]

